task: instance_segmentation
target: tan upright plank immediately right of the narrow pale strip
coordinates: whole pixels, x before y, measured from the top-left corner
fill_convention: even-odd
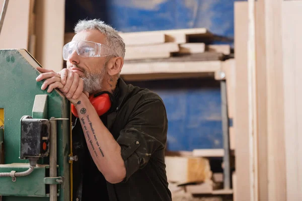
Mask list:
[[[257,125],[258,125],[258,189],[259,200],[268,200],[268,139],[267,139],[267,73],[264,1],[255,3]]]

